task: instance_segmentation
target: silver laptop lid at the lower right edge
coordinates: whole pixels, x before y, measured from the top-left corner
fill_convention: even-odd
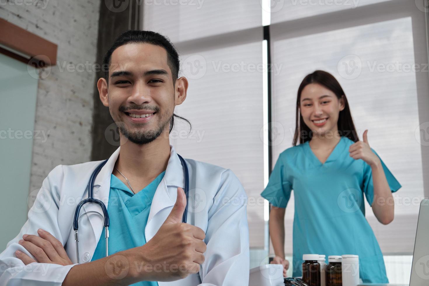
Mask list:
[[[409,286],[429,285],[429,200],[420,203],[414,243],[413,263]],[[361,284],[360,286],[408,286],[398,284]]]

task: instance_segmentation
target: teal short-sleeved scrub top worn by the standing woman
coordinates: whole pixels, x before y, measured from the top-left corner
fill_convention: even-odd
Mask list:
[[[326,260],[330,255],[354,254],[359,255],[364,283],[389,283],[383,254],[365,218],[364,196],[370,205],[374,199],[372,170],[365,161],[349,156],[352,144],[341,137],[323,164],[308,141],[286,149],[261,193],[275,207],[286,208],[294,191],[294,277],[302,276],[303,254],[324,254]],[[396,192],[401,185],[381,164],[390,190]]]

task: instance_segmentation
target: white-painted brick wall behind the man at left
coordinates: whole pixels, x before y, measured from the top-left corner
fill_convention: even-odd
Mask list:
[[[49,137],[33,141],[29,191],[38,190],[55,166],[90,160],[99,8],[100,0],[0,2],[0,18],[58,45],[59,64],[39,80],[34,129]],[[87,62],[91,68],[83,72],[62,69],[64,63]]]

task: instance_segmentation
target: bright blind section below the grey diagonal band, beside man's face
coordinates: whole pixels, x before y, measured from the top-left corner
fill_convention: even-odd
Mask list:
[[[184,54],[183,63],[192,61],[184,65],[189,89],[175,112],[190,120],[193,131],[185,135],[188,126],[180,124],[170,136],[187,157],[231,169],[249,198],[259,197],[263,189],[263,92],[262,73],[246,72],[245,66],[257,66],[261,56],[261,41]],[[205,71],[198,75],[196,66]],[[250,245],[263,247],[263,200],[248,202]]]

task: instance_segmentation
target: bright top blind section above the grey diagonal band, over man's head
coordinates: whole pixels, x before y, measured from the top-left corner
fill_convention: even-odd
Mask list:
[[[183,42],[260,27],[261,11],[258,0],[152,0],[142,17],[145,30]]]

